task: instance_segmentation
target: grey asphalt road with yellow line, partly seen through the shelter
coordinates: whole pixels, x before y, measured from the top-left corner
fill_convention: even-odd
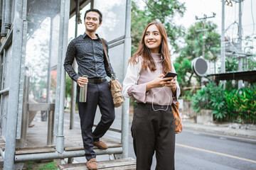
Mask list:
[[[114,123],[114,128],[120,126],[120,116]],[[99,118],[96,118],[99,119]],[[80,128],[78,115],[75,119],[75,127]],[[69,125],[68,114],[65,114],[65,125]],[[116,132],[108,132],[107,136],[120,139]],[[134,157],[132,137],[129,134],[129,157]],[[106,159],[106,156],[97,159]],[[84,158],[75,159],[84,162]],[[231,170],[231,169],[256,169],[256,140],[241,137],[228,137],[213,135],[210,133],[196,132],[194,130],[183,130],[176,135],[176,169],[189,170]],[[153,160],[152,168],[156,166]]]

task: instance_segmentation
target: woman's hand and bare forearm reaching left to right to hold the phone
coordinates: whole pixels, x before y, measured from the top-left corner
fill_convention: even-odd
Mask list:
[[[164,74],[160,74],[154,80],[149,81],[146,84],[146,91],[148,91],[149,89],[152,89],[152,88],[166,86],[166,84],[169,84],[168,81],[171,81],[171,79],[173,79],[172,77],[168,77],[168,78],[164,78],[164,79],[162,77],[164,77]]]

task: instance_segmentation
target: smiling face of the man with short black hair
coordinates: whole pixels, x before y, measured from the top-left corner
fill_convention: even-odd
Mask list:
[[[101,25],[100,14],[94,11],[90,11],[85,16],[85,28],[89,32],[95,32]]]

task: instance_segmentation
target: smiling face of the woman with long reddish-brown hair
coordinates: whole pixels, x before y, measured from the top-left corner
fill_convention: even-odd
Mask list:
[[[161,45],[162,36],[159,32],[159,29],[156,25],[152,24],[149,28],[146,29],[146,35],[144,42],[146,47],[149,48],[151,53],[159,53],[159,48]]]

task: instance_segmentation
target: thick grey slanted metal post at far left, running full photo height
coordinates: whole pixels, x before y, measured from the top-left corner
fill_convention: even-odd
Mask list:
[[[4,170],[13,169],[14,155],[16,147],[16,125],[18,113],[18,91],[19,80],[21,74],[21,52],[22,52],[22,34],[23,34],[23,21],[22,16],[23,1],[16,1],[16,16],[14,18],[14,33],[12,39],[12,57],[11,57],[11,73],[10,73],[10,86],[9,103],[7,113],[6,132],[6,148],[4,155]]]

